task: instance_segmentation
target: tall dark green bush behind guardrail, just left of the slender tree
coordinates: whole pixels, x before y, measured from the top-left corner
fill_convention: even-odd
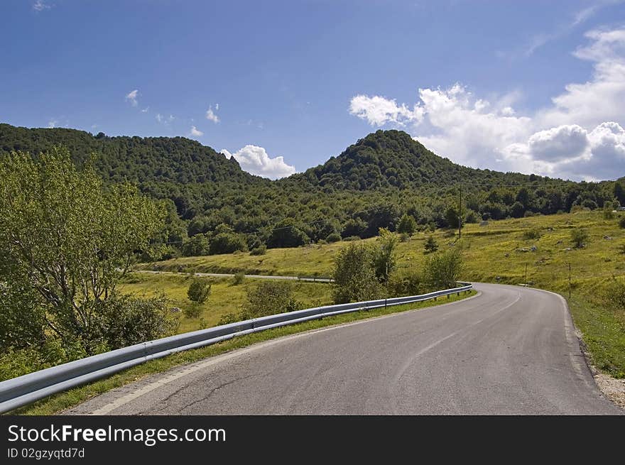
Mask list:
[[[361,302],[381,296],[375,262],[376,250],[368,244],[350,243],[337,253],[332,272],[335,303]]]

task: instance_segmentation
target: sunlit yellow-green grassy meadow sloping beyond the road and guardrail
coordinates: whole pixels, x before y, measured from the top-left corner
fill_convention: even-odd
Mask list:
[[[620,214],[621,217],[624,213]],[[602,371],[619,378],[625,377],[625,314],[622,309],[604,305],[606,284],[612,277],[625,276],[625,229],[619,227],[619,215],[604,219],[600,211],[580,211],[571,214],[537,216],[521,219],[490,221],[489,224],[467,224],[462,239],[457,231],[437,230],[432,235],[444,251],[462,247],[464,251],[464,280],[491,283],[529,283],[533,287],[560,292],[568,297],[569,267],[571,265],[572,299],[570,309],[578,329],[592,355],[593,363]],[[585,228],[589,240],[584,248],[574,248],[573,229]],[[524,232],[536,230],[538,239],[524,239]],[[423,244],[430,234],[418,233],[398,246],[398,266],[423,266]],[[376,239],[366,239],[372,242]],[[335,254],[347,243],[310,245],[299,248],[270,249],[264,256],[249,253],[178,258],[158,263],[143,263],[138,268],[148,270],[195,270],[207,273],[245,273],[269,275],[327,276],[331,274]],[[527,273],[527,274],[526,274]],[[175,287],[144,278],[144,290],[161,286],[168,294],[183,300],[184,284]],[[181,278],[184,279],[184,278]],[[152,282],[152,280],[156,280]],[[173,282],[171,282],[173,283]],[[314,283],[298,283],[297,296],[305,302],[329,302],[330,288]],[[131,286],[138,285],[129,285]],[[140,287],[140,286],[139,286]],[[219,283],[207,303],[207,322],[214,315],[242,302],[244,293],[235,286]],[[308,294],[308,292],[311,292]],[[307,295],[310,300],[305,300]],[[227,301],[222,303],[222,296]],[[182,299],[182,300],[180,300]],[[212,306],[212,310],[209,307]],[[218,318],[217,318],[218,319]],[[183,322],[183,328],[195,329],[195,322]]]

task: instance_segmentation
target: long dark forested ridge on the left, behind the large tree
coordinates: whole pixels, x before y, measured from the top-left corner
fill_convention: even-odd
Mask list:
[[[241,170],[212,148],[184,137],[109,137],[66,128],[21,128],[0,124],[0,153],[23,150],[37,155],[51,146],[69,148],[80,163],[97,153],[95,165],[102,177],[113,182],[265,182]]]

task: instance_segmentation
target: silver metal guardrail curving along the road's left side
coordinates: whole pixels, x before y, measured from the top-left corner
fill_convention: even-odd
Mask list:
[[[296,310],[267,317],[246,319],[242,322],[223,324],[222,326],[201,329],[200,331],[177,334],[176,336],[142,342],[134,346],[116,349],[104,354],[86,357],[62,365],[45,368],[7,381],[0,382],[0,413],[9,412],[23,405],[28,405],[48,395],[60,393],[77,385],[89,383],[99,378],[112,375],[131,366],[148,360],[158,359],[176,352],[215,344],[236,336],[250,334],[276,327],[307,322],[337,314],[373,310],[391,305],[423,302],[435,297],[442,297],[473,288],[470,283],[458,288],[439,290],[423,295],[393,297],[391,299],[369,300],[349,304],[327,305],[306,310]]]

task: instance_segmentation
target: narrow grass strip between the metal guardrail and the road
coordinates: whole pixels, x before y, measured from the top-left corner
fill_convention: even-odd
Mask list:
[[[235,337],[227,341],[219,342],[211,346],[203,347],[201,349],[192,349],[189,351],[179,352],[163,359],[156,359],[142,363],[141,365],[134,366],[120,373],[116,373],[113,376],[104,378],[99,381],[94,381],[87,385],[82,385],[77,388],[67,390],[64,393],[52,395],[48,398],[39,400],[36,403],[21,407],[13,410],[6,415],[54,415],[62,410],[66,410],[74,405],[78,405],[89,398],[93,398],[99,394],[107,392],[113,388],[117,388],[121,385],[138,381],[139,379],[151,375],[153,373],[159,373],[161,371],[168,370],[174,366],[179,366],[185,363],[192,363],[206,357],[223,354],[227,351],[234,349],[241,349],[242,347],[256,344],[257,342],[266,341],[268,339],[275,339],[277,337],[288,336],[289,334],[295,334],[298,332],[310,331],[312,329],[319,329],[323,327],[330,327],[337,324],[344,324],[354,322],[361,319],[369,319],[374,317],[380,317],[386,314],[407,312],[409,310],[423,310],[425,308],[435,307],[437,305],[444,305],[450,302],[457,302],[467,297],[476,295],[477,292],[472,290],[466,293],[458,295],[450,295],[447,297],[440,297],[437,300],[428,300],[426,302],[418,302],[414,304],[397,305],[395,307],[380,308],[376,310],[366,310],[354,313],[347,313],[337,315],[335,317],[326,317],[323,319],[315,319],[309,322],[303,322],[293,324],[286,327],[267,329],[266,331],[246,334],[245,336]]]

